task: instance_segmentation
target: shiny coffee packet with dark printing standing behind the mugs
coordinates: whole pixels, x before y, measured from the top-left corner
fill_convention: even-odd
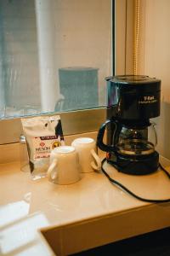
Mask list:
[[[65,145],[60,117],[44,115],[22,118],[21,124],[26,137],[31,177],[46,177],[51,151]]]

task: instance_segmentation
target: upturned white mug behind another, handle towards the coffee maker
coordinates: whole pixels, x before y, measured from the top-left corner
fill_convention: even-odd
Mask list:
[[[71,146],[77,149],[81,172],[99,171],[101,160],[99,159],[96,143],[91,137],[79,137],[75,139]]]

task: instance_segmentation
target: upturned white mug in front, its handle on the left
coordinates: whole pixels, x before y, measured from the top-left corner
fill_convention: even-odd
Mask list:
[[[56,147],[51,151],[48,180],[59,185],[76,183],[80,179],[78,154],[71,146]]]

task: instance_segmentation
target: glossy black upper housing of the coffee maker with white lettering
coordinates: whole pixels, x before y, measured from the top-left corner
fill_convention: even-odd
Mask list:
[[[122,75],[106,81],[108,119],[150,119],[160,115],[161,80]]]

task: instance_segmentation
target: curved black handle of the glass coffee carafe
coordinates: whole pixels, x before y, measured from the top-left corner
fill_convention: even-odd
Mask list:
[[[116,122],[112,119],[109,119],[107,120],[104,124],[102,124],[99,128],[99,132],[98,132],[98,137],[97,137],[97,146],[105,151],[105,152],[116,152],[116,148],[114,146],[111,146],[111,145],[106,145],[104,142],[103,142],[103,138],[104,138],[104,134],[105,134],[105,127],[106,125],[110,124],[110,123],[114,123],[115,126],[116,125]]]

